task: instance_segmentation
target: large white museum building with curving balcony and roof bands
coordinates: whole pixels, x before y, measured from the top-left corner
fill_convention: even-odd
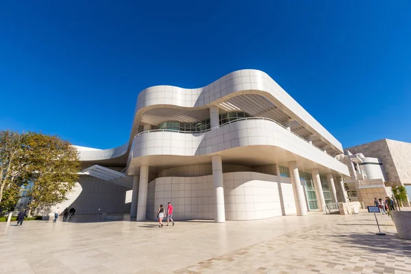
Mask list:
[[[69,201],[78,214],[254,220],[347,201],[343,147],[262,71],[203,88],[153,86],[138,95],[129,141],[77,147],[83,171]]]

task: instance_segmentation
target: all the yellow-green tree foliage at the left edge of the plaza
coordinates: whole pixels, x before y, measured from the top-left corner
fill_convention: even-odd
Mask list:
[[[70,142],[36,132],[1,131],[0,146],[2,208],[15,204],[16,193],[28,182],[33,183],[28,193],[30,212],[66,200],[80,169],[77,149]]]

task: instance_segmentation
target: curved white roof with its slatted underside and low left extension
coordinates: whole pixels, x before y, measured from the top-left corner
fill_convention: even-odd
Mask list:
[[[153,86],[138,95],[129,142],[114,149],[92,150],[78,147],[83,161],[118,158],[130,151],[134,136],[142,123],[158,123],[153,117],[170,116],[198,119],[208,114],[208,108],[218,105],[222,110],[255,111],[254,115],[290,121],[292,131],[301,137],[310,136],[327,147],[327,151],[343,153],[343,147],[314,117],[262,71],[245,69],[229,73],[203,88]],[[151,118],[150,118],[151,117]],[[151,119],[151,120],[150,120]],[[278,121],[281,123],[282,121]],[[294,130],[295,129],[295,130]],[[306,134],[306,136],[303,136]]]

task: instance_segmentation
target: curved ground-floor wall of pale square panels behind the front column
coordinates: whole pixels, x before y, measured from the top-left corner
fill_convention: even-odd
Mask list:
[[[287,177],[254,172],[224,173],[227,220],[264,219],[295,214],[292,184]],[[149,183],[147,218],[155,219],[160,204],[173,204],[173,219],[214,219],[212,175],[160,177]]]

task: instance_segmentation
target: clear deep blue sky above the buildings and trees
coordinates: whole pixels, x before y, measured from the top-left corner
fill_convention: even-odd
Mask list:
[[[411,142],[411,1],[1,1],[0,129],[110,148],[140,90],[265,71],[344,147]]]

